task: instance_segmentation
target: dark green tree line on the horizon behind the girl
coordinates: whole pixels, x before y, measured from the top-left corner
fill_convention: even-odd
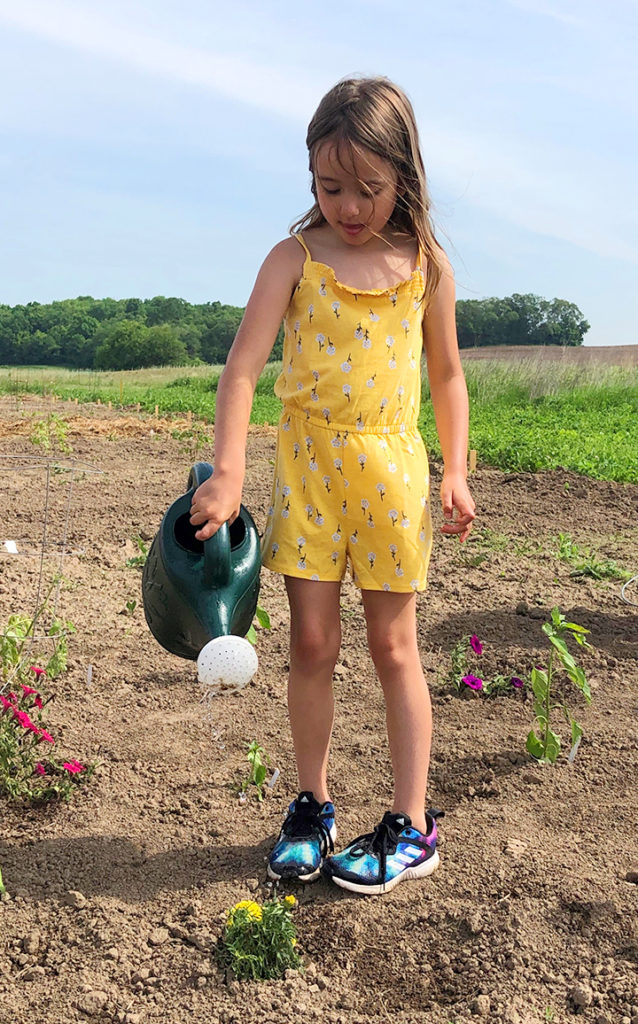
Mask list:
[[[244,309],[184,299],[93,299],[0,305],[0,365],[77,370],[222,364]],[[461,348],[582,345],[589,324],[572,302],[538,295],[457,302]],[[280,330],[271,359],[282,358]]]

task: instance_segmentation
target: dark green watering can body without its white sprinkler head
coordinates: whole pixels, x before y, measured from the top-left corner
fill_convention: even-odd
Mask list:
[[[243,505],[231,525],[223,523],[208,541],[190,524],[195,490],[213,467],[198,462],[186,494],[173,502],[146,556],[142,574],[144,615],[165,650],[196,660],[210,640],[246,636],[259,595],[259,535]]]

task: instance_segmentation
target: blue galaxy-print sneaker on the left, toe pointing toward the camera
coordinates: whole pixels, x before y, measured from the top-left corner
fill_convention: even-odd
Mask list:
[[[324,858],[335,848],[335,808],[320,804],[309,792],[300,793],[288,808],[280,837],[268,860],[268,876],[314,882]]]

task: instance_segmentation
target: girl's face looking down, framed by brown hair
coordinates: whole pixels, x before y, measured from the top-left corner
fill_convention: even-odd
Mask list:
[[[370,150],[350,155],[327,139],[316,152],[314,181],[324,217],[348,246],[365,245],[380,234],[392,216],[396,171]]]

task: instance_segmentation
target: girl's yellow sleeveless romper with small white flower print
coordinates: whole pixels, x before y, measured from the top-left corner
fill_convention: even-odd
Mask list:
[[[423,269],[356,289],[310,256],[284,318],[272,500],[261,551],[275,572],[420,591],[432,547],[421,401]]]

